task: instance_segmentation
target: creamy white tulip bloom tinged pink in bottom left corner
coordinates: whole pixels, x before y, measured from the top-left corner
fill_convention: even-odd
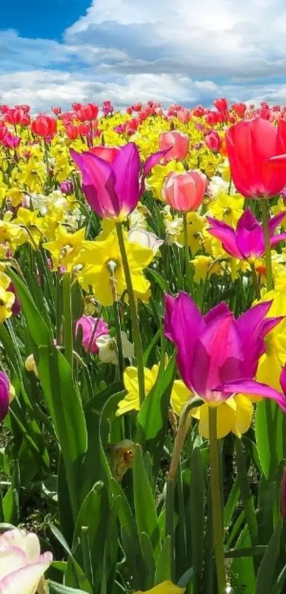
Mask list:
[[[0,594],[34,594],[53,561],[40,554],[36,534],[14,529],[0,536]]]

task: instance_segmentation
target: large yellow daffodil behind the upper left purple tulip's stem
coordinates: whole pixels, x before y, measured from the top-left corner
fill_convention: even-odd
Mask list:
[[[153,250],[125,240],[126,254],[133,291],[138,298],[145,298],[150,283],[143,276],[143,269],[152,262]],[[94,296],[103,306],[111,306],[111,268],[114,269],[116,292],[121,296],[126,289],[125,275],[116,232],[111,232],[106,240],[84,242],[84,249],[75,260],[75,264],[84,265],[79,273],[79,282],[86,289],[94,288]]]

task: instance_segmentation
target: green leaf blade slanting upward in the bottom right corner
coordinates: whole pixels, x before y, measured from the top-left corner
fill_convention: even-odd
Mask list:
[[[282,520],[280,519],[260,563],[256,579],[255,594],[265,594],[266,592],[271,591],[275,574],[275,564],[280,552],[281,531]]]

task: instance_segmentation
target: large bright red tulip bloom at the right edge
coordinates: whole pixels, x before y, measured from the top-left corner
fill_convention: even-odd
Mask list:
[[[270,198],[286,185],[286,121],[277,127],[263,118],[234,124],[226,151],[233,183],[246,198]]]

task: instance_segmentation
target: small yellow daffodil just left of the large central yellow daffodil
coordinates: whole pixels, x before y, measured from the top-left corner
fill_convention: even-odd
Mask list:
[[[63,225],[59,225],[55,232],[56,239],[53,242],[44,243],[43,247],[53,257],[53,267],[67,266],[75,262],[75,258],[84,245],[85,228],[75,233],[70,233]]]

